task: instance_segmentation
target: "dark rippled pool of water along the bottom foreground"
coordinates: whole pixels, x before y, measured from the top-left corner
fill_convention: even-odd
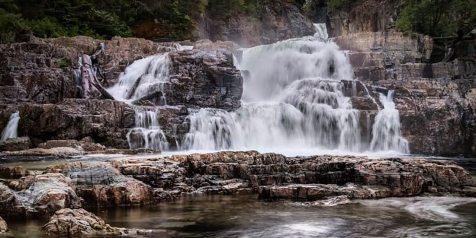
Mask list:
[[[474,198],[387,198],[316,206],[248,195],[196,196],[153,206],[89,210],[112,226],[153,229],[160,237],[476,236]],[[44,220],[6,220],[11,230],[7,237],[43,236]]]

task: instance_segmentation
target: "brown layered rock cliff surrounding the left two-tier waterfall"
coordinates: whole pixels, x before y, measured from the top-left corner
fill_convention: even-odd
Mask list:
[[[180,106],[161,109],[163,129],[174,145],[187,132],[186,125],[182,127],[187,108],[240,107],[243,79],[233,66],[232,52],[238,46],[231,42],[199,41],[193,43],[195,50],[177,51],[172,43],[136,38],[101,42],[88,37],[26,37],[24,41],[0,46],[0,128],[19,111],[18,134],[29,136],[34,147],[46,140],[88,137],[108,147],[129,148],[126,135],[135,126],[135,109],[164,106],[156,100],[162,93],[168,106]],[[98,51],[101,43],[106,50]],[[170,80],[163,90],[135,102],[136,106],[100,95],[81,98],[77,79],[81,55],[100,52],[92,68],[103,86],[110,87],[136,60],[169,51]]]

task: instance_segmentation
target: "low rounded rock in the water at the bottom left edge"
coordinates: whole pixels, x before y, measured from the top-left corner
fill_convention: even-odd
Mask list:
[[[43,227],[49,236],[120,235],[118,228],[84,209],[62,209],[56,211]]]

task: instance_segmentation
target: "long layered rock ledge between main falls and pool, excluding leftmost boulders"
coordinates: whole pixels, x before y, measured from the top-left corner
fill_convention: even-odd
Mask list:
[[[69,163],[47,172],[70,177],[89,204],[127,205],[182,194],[258,193],[265,199],[316,200],[476,196],[476,185],[451,161],[313,156],[288,158],[258,152],[220,152],[163,159]]]

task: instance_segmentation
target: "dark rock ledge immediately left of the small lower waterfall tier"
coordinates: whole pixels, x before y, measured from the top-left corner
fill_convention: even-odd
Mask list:
[[[125,135],[134,125],[134,111],[123,102],[111,100],[24,104],[20,106],[20,115],[18,133],[40,142],[92,137],[106,146],[128,148]]]

